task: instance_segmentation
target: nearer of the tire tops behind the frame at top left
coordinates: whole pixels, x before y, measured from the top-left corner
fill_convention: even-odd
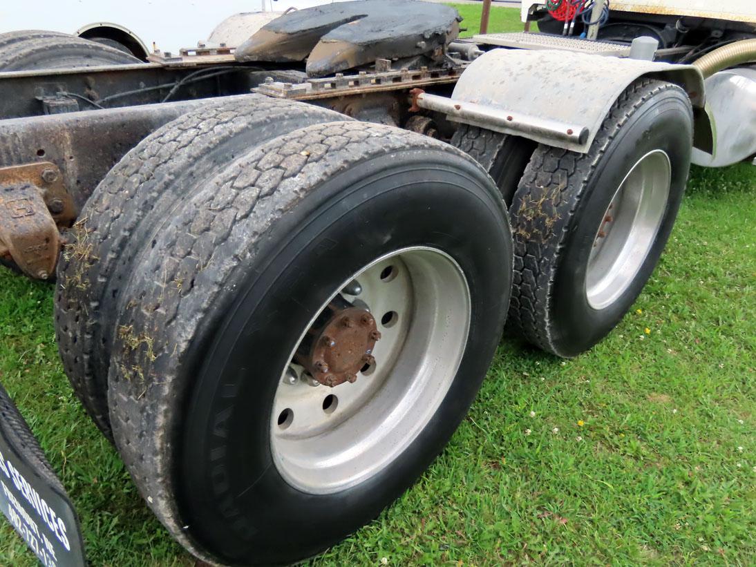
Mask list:
[[[141,60],[131,54],[65,33],[28,30],[0,34],[0,71],[136,63]]]

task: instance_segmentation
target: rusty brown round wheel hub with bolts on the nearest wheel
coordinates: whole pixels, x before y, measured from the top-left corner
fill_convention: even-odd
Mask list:
[[[373,364],[380,332],[375,318],[364,308],[331,302],[327,311],[330,318],[319,329],[311,330],[309,349],[297,352],[296,361],[319,383],[333,388],[354,383],[361,368]]]

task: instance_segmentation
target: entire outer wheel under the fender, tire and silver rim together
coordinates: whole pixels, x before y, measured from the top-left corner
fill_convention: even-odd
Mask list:
[[[517,332],[572,357],[618,324],[667,243],[691,150],[685,91],[649,79],[624,91],[588,153],[538,147],[510,207]]]

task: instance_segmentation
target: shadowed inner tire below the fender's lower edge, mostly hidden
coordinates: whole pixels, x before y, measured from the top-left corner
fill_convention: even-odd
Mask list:
[[[451,145],[466,152],[488,171],[507,206],[512,204],[522,173],[538,147],[536,142],[527,138],[466,124],[454,132]]]

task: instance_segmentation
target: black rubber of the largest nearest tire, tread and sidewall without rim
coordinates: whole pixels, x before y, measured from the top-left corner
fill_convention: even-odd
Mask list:
[[[479,389],[511,287],[496,187],[447,144],[335,122],[249,151],[158,224],[114,325],[116,446],[152,510],[200,558],[268,565],[319,553],[417,479]],[[333,494],[305,494],[272,462],[281,368],[334,286],[404,246],[441,249],[469,284],[471,321],[451,389],[380,472]],[[180,289],[166,293],[166,268]]]

